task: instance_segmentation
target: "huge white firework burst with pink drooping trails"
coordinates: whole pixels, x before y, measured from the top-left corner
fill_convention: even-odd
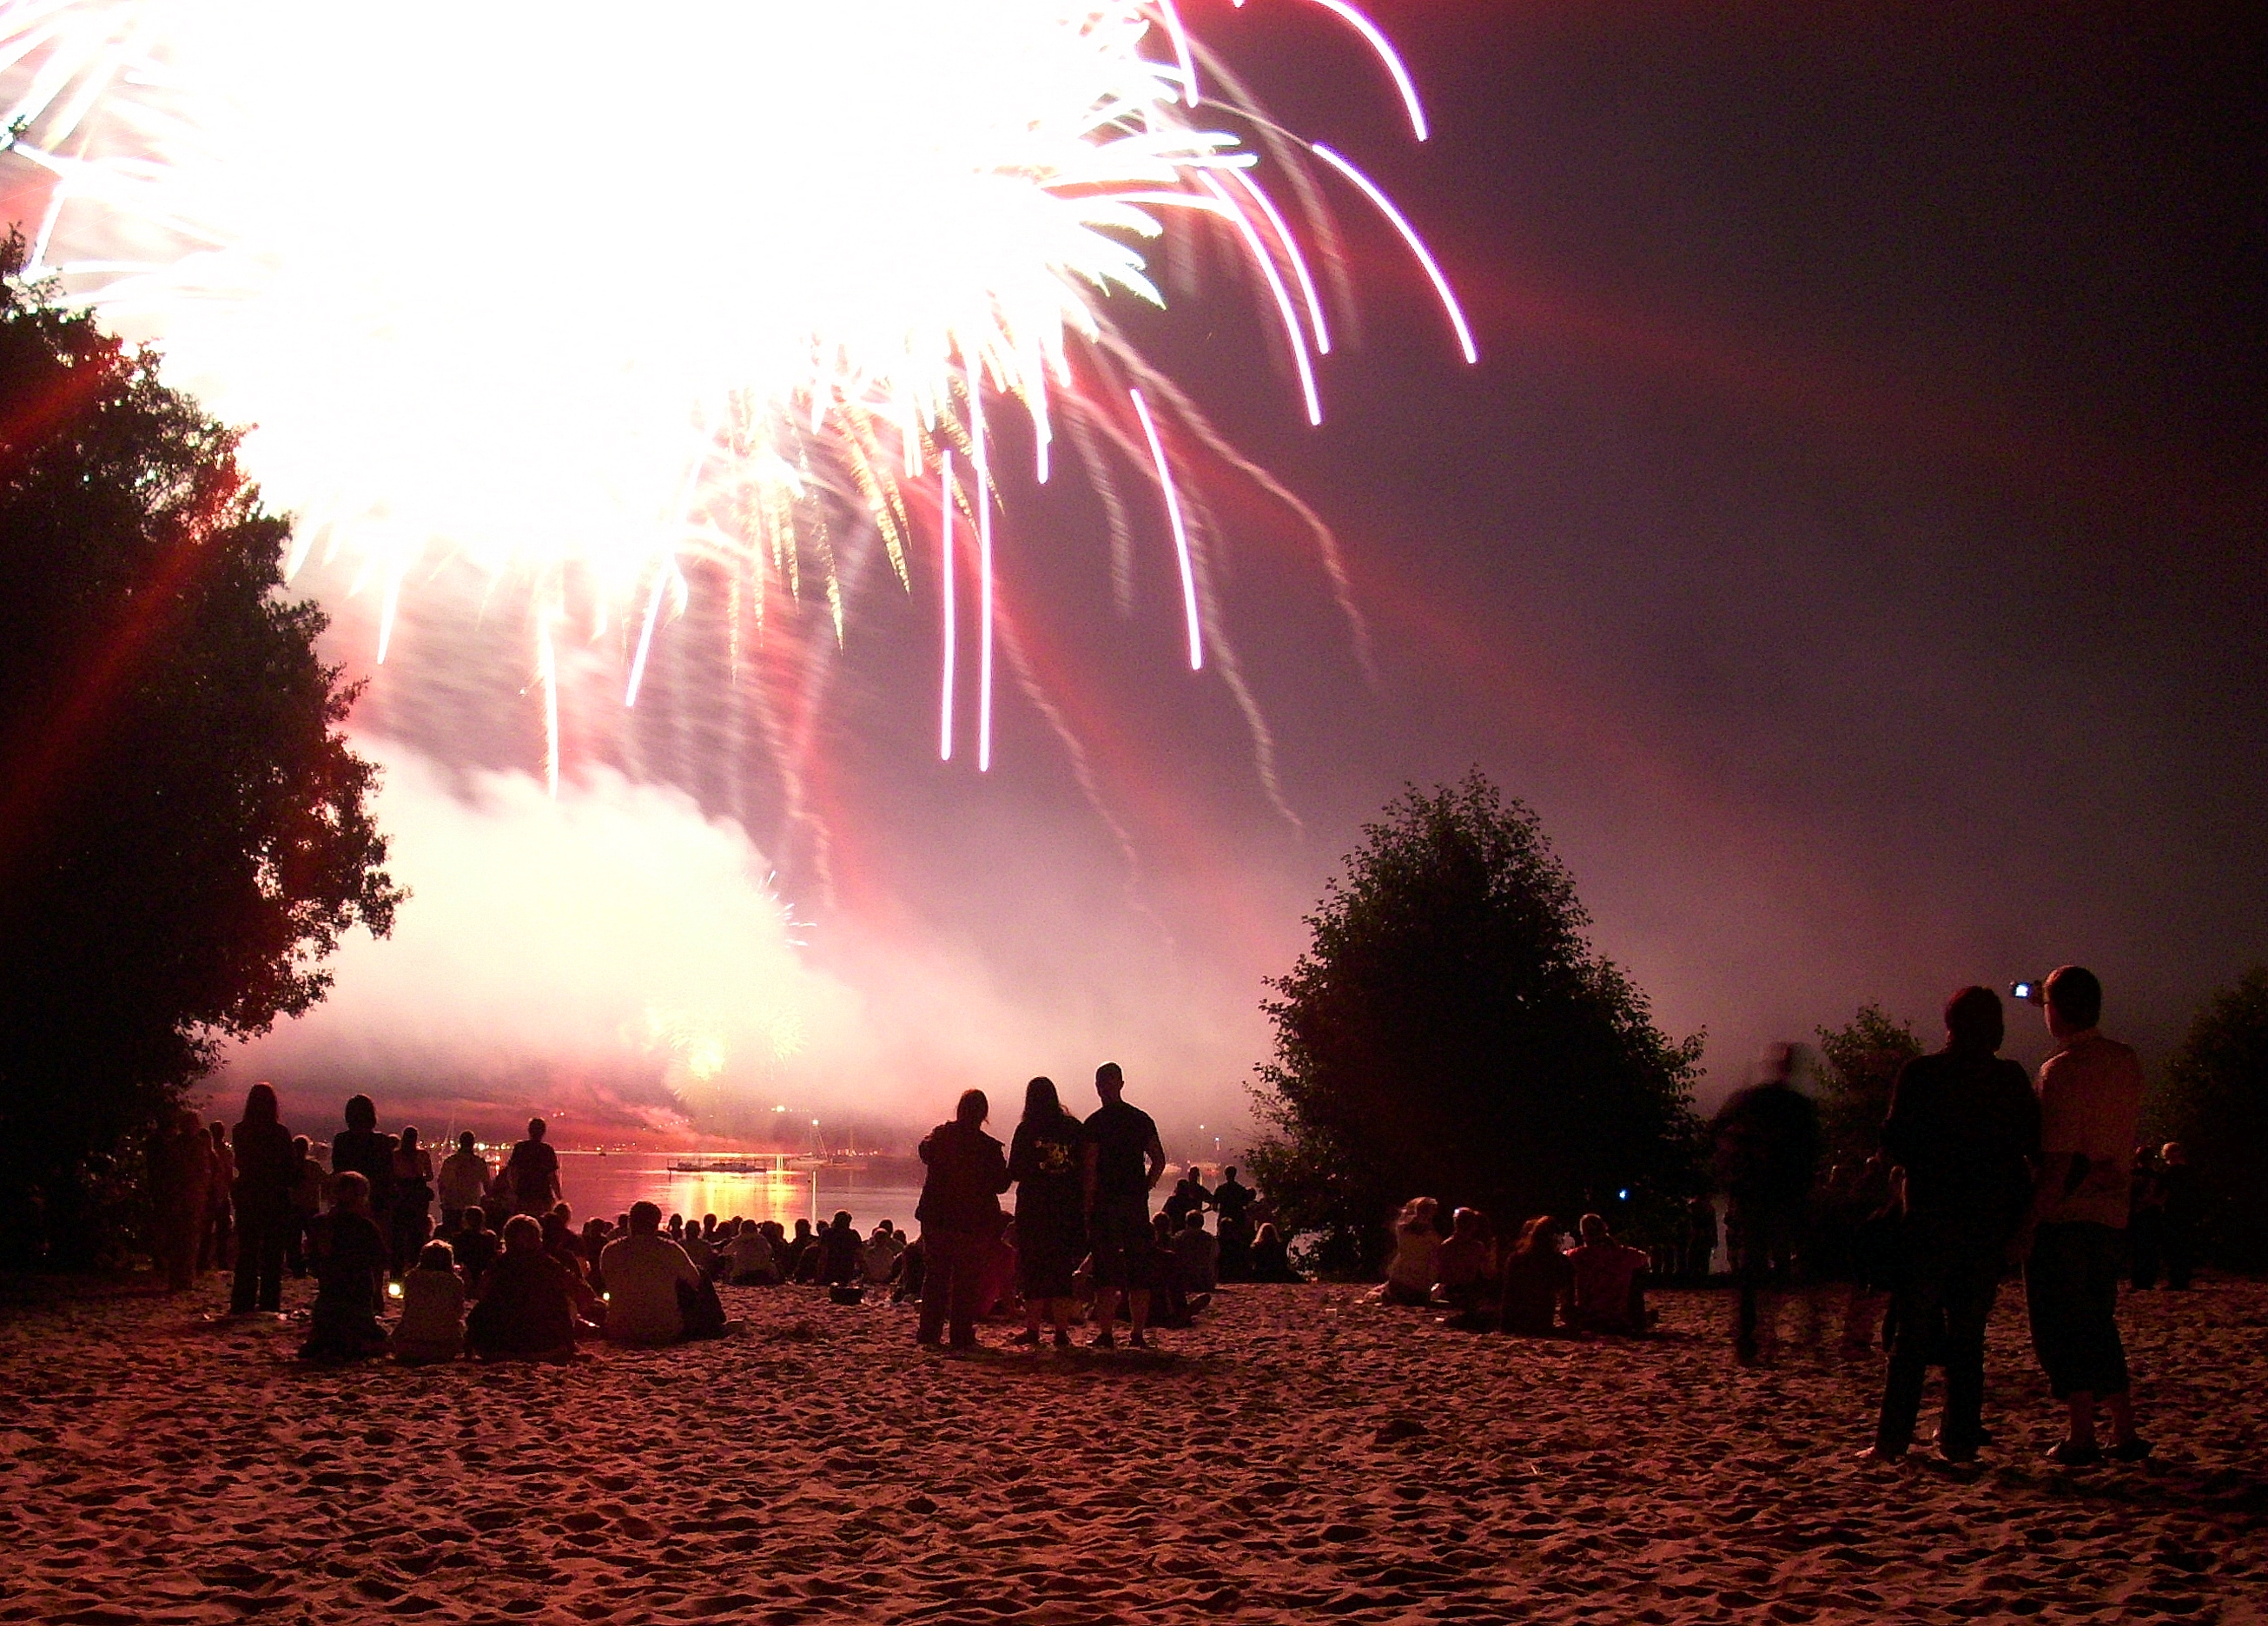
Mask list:
[[[1343,0],[1286,2],[1368,41],[1422,141],[1415,84],[1377,25]],[[245,460],[297,515],[290,567],[311,549],[356,567],[383,605],[379,660],[422,558],[463,556],[524,592],[553,789],[560,637],[635,619],[621,687],[635,703],[658,630],[694,592],[730,592],[737,671],[742,592],[762,637],[767,574],[796,596],[814,571],[839,640],[837,537],[875,535],[912,590],[907,488],[930,472],[939,755],[953,757],[953,508],[966,501],[989,769],[987,415],[1000,410],[1030,426],[1046,481],[1066,404],[1080,444],[1100,426],[1132,449],[1102,406],[1132,388],[1191,667],[1204,664],[1202,533],[1184,524],[1136,386],[1241,460],[1175,406],[1114,302],[1161,304],[1148,247],[1213,220],[1277,311],[1311,422],[1313,356],[1331,345],[1300,243],[1327,222],[1266,184],[1268,163],[1304,150],[1207,100],[1202,59],[1173,0],[583,14],[0,0],[5,141],[52,175],[29,274],[159,340],[168,379],[256,424]],[[1472,361],[1408,220],[1336,152],[1313,154],[1404,236]]]

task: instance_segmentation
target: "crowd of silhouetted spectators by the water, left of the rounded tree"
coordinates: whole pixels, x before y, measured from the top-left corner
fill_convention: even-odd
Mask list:
[[[281,1313],[284,1274],[313,1274],[304,1356],[404,1363],[723,1336],[719,1286],[796,1281],[837,1302],[914,1302],[923,1345],[966,1349],[980,1320],[1021,1318],[1016,1345],[1039,1347],[1052,1322],[1064,1347],[1093,1320],[1093,1343],[1111,1347],[1125,1318],[1141,1347],[1152,1327],[1186,1327],[1222,1281],[1300,1279],[1234,1168],[1209,1188],[1191,1166],[1152,1213],[1168,1168],[1157,1125],[1125,1102],[1116,1066],[1095,1089],[1102,1107],[1082,1120],[1032,1079],[1012,1150],[984,1134],[982,1091],[962,1095],[921,1143],[921,1229],[907,1236],[887,1218],[862,1234],[848,1211],[792,1231],[714,1213],[665,1225],[651,1202],[576,1225],[542,1118],[501,1166],[467,1132],[435,1168],[415,1127],[376,1127],[367,1095],[347,1102],[324,1168],[284,1127],[274,1089],[254,1084],[234,1127],[184,1109],[150,1147],[152,1252],[172,1290],[231,1268],[236,1315]],[[1009,1186],[1012,1213],[998,1200]]]

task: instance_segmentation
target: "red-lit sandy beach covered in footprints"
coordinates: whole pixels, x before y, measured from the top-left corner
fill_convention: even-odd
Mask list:
[[[726,1297],[730,1343],[311,1370],[213,1279],[18,1284],[0,1619],[2268,1619],[2261,1284],[2127,1299],[2159,1456],[2084,1472],[2016,1293],[1978,1470],[1860,1467],[1878,1365],[1735,1370],[1717,1293],[1579,1345],[1232,1288],[1148,1358],[964,1361]]]

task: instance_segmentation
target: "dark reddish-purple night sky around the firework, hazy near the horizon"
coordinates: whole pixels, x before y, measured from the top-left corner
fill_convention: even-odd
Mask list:
[[[1479,336],[1467,370],[1347,190],[1359,345],[1325,429],[1218,263],[1129,320],[1338,531],[1377,678],[1300,526],[1186,442],[1297,825],[1220,662],[1179,667],[1139,469],[1129,617],[1080,483],[1012,481],[1000,540],[1125,848],[1014,692],[989,776],[934,762],[919,574],[853,583],[801,748],[721,728],[696,605],[610,760],[744,814],[814,964],[889,1005],[950,962],[1057,1023],[1002,1075],[1084,1077],[1123,1032],[1193,1134],[1359,823],[1472,764],[1538,810],[1662,1025],[1708,1027],[1708,1093],[1864,1000],[1930,1034],[1950,989],[2068,959],[2161,1055],[2268,957],[2259,9],[1381,0],[1427,145],[1322,11],[1184,14],[1388,186]],[[538,760],[510,649],[474,701],[415,646],[370,726]]]

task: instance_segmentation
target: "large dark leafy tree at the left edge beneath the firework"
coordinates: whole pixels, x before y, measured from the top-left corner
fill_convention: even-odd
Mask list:
[[[0,247],[0,1236],[82,1263],[156,1116],[401,891],[236,431]]]

